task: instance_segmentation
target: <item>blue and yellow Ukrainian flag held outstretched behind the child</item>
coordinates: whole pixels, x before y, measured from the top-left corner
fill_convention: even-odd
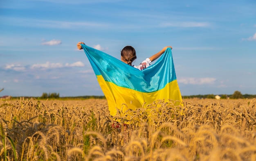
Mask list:
[[[140,71],[102,51],[81,44],[88,57],[99,85],[106,96],[110,114],[117,109],[135,110],[158,99],[171,99],[181,104],[171,48],[148,68]],[[127,106],[124,106],[126,104]]]

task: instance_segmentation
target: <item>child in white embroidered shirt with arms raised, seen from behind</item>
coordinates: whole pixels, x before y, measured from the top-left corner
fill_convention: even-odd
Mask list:
[[[83,42],[78,42],[77,45],[76,45],[78,49],[83,49],[83,48],[81,47],[81,44],[85,44],[85,43],[83,43]],[[153,62],[153,61],[156,60],[159,56],[161,56],[161,55],[164,53],[164,51],[165,51],[168,47],[170,47],[170,48],[172,49],[171,46],[166,46],[166,47],[164,47],[161,51],[159,51],[157,54],[154,54],[154,55],[151,56],[150,58],[146,58],[146,60],[142,61],[142,62],[140,63],[140,65],[135,66],[135,65],[132,65],[132,62],[137,58],[137,56],[136,56],[136,51],[135,51],[135,49],[134,49],[132,46],[126,46],[126,47],[124,47],[124,49],[122,49],[122,51],[121,51],[121,61],[124,62],[124,63],[126,63],[126,64],[128,64],[128,65],[131,65],[132,67],[135,67],[135,68],[137,68],[137,69],[139,69],[139,70],[143,70],[143,69],[149,67],[149,65],[151,64],[151,62]]]

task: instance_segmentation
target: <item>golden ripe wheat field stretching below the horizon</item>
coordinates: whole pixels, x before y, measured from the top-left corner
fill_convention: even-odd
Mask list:
[[[183,101],[0,100],[0,161],[256,160],[256,99]]]

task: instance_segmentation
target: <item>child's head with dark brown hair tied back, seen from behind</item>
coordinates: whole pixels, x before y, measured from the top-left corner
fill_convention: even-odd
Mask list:
[[[132,46],[126,46],[121,51],[121,61],[132,65],[132,62],[137,58],[136,51]]]

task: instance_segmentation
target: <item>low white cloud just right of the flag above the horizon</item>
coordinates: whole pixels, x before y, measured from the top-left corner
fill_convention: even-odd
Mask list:
[[[213,84],[216,78],[180,78],[178,83],[202,85],[202,84]]]

